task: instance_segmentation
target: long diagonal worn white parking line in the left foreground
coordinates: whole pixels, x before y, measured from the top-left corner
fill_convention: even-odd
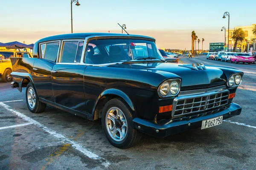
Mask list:
[[[61,135],[60,133],[56,132],[55,130],[52,130],[51,128],[46,127],[45,125],[35,121],[34,119],[30,118],[29,116],[26,116],[26,115],[24,115],[24,114],[22,114],[18,111],[13,110],[10,106],[4,104],[3,102],[0,102],[0,106],[2,106],[3,108],[5,108],[8,111],[11,111],[12,113],[15,113],[17,116],[19,116],[20,118],[28,121],[29,123],[34,124],[37,127],[43,129],[47,133],[50,133],[52,136],[55,136],[56,138],[58,138],[62,142],[66,142],[66,143],[71,144],[73,148],[75,148],[76,150],[79,150],[81,153],[83,153],[85,156],[89,157],[90,159],[101,159],[99,161],[102,161],[103,166],[108,167],[110,165],[110,163],[107,160],[105,160],[102,157],[96,155],[95,153],[91,152],[90,150],[87,150],[85,147],[81,146],[77,142],[70,140],[69,138]]]

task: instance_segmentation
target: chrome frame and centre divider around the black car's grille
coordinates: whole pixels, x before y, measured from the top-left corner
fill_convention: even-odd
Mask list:
[[[179,114],[179,115],[174,115],[175,111],[176,111],[176,108],[177,108],[177,103],[180,99],[194,99],[194,98],[197,98],[197,97],[206,97],[206,99],[205,99],[206,105],[204,106],[203,111],[207,111],[209,109],[212,109],[212,108],[207,108],[207,102],[209,101],[209,96],[214,95],[214,94],[219,94],[219,93],[225,93],[225,92],[228,92],[228,94],[229,94],[230,91],[227,88],[223,88],[223,89],[210,91],[210,92],[205,92],[205,93],[201,93],[201,94],[191,94],[191,95],[186,95],[186,96],[175,97],[175,99],[173,100],[172,117],[175,118],[175,117],[180,117],[180,116],[183,116],[183,115],[202,112],[202,111],[195,111],[195,112],[192,112],[192,113],[183,113],[183,114]],[[225,103],[224,105],[227,105],[227,103]],[[220,107],[220,106],[223,106],[223,105],[218,105],[217,107]],[[213,108],[217,108],[217,107],[213,107]]]

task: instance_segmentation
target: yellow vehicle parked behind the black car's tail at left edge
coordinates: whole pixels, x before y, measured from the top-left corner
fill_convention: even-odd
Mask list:
[[[0,78],[2,82],[12,81],[12,63],[10,57],[32,57],[32,54],[27,51],[17,51],[17,49],[6,49],[0,47]]]

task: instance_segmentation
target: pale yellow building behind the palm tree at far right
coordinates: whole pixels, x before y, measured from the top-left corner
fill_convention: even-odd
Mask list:
[[[251,26],[237,26],[235,27],[234,29],[230,29],[229,31],[229,34],[228,34],[228,30],[226,28],[226,50],[227,50],[227,38],[229,37],[229,51],[233,50],[234,48],[234,44],[235,44],[235,41],[232,40],[232,35],[233,35],[233,31],[235,29],[238,29],[238,28],[242,28],[245,32],[245,40],[247,40],[247,42],[243,42],[241,44],[241,51],[249,51],[250,48],[253,48],[253,49],[256,49],[256,35],[253,34],[253,28],[256,24],[252,24]]]

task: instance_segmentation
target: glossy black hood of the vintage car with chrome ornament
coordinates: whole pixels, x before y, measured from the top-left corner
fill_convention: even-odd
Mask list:
[[[166,79],[173,78],[169,76],[170,73],[176,74],[177,77],[182,79],[181,90],[183,91],[225,85],[227,79],[226,75],[220,68],[206,66],[206,69],[196,70],[194,68],[189,68],[191,64],[182,65],[176,63],[147,62],[112,66],[141,69],[144,71],[155,71],[158,74],[166,76]]]

